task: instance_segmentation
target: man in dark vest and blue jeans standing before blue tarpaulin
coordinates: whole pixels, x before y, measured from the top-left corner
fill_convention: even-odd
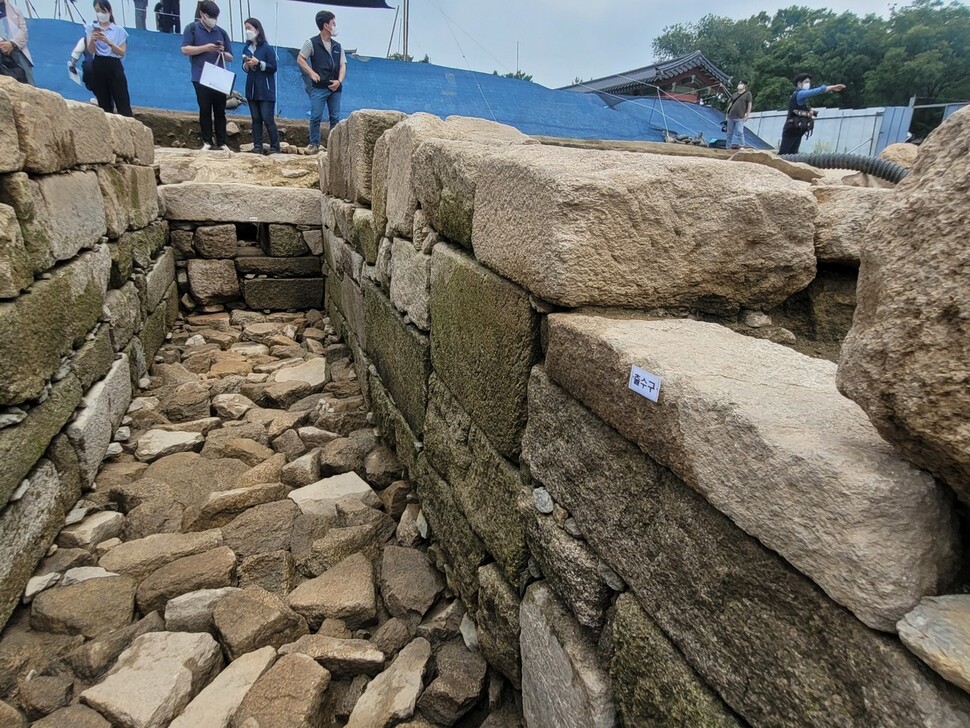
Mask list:
[[[319,35],[303,44],[296,57],[303,72],[310,77],[310,146],[307,151],[320,151],[320,121],[323,107],[327,106],[330,129],[337,125],[340,117],[340,93],[344,89],[344,76],[347,75],[347,57],[343,48],[334,38],[337,35],[337,21],[329,10],[321,10],[316,17]],[[328,132],[329,135],[329,132]]]

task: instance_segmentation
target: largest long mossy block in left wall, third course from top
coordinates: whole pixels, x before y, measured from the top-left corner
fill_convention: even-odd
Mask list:
[[[40,396],[61,357],[101,318],[110,270],[102,245],[35,282],[29,293],[0,303],[0,405]]]

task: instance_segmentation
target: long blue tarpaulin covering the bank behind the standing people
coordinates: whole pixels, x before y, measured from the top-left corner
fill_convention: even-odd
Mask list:
[[[29,20],[30,50],[37,84],[66,98],[87,101],[91,94],[71,82],[67,61],[82,36],[80,25],[64,20]],[[134,106],[198,111],[189,75],[189,59],[180,51],[181,35],[128,29],[125,73]],[[312,33],[308,31],[307,37]],[[238,63],[242,43],[233,44],[238,74],[236,89],[245,88]],[[305,119],[309,100],[297,51],[279,48],[278,113]],[[612,108],[611,108],[612,104]],[[723,114],[715,109],[673,100],[644,97],[611,99],[596,94],[557,91],[529,81],[476,73],[430,63],[406,63],[383,58],[348,57],[341,117],[357,109],[425,111],[437,116],[475,116],[516,127],[525,134],[576,139],[663,141],[664,129],[705,139],[723,138]],[[236,113],[248,114],[245,106]],[[768,145],[748,135],[748,144]]]

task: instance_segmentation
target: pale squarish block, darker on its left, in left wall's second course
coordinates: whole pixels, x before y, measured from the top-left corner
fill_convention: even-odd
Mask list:
[[[94,172],[0,178],[0,201],[13,207],[34,273],[93,247],[107,231]]]

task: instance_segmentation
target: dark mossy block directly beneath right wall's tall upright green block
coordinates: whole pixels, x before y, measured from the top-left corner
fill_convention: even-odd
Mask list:
[[[435,375],[424,439],[428,461],[451,484],[459,507],[505,578],[518,583],[528,559],[526,524],[518,507],[528,494],[518,467],[489,444]]]

